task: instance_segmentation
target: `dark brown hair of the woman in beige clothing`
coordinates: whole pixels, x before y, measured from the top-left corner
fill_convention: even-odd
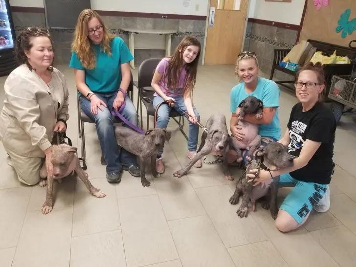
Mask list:
[[[19,65],[26,64],[30,70],[34,69],[28,62],[28,58],[25,54],[25,51],[29,51],[32,48],[31,40],[39,36],[47,37],[51,42],[53,49],[53,41],[51,35],[46,29],[41,29],[38,27],[28,27],[27,30],[22,31],[22,33],[20,33],[18,38],[16,39],[15,59]],[[47,67],[47,69],[49,71],[53,71],[52,66]]]

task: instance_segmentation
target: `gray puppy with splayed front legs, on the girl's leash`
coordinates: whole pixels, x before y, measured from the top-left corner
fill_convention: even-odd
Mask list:
[[[182,177],[192,168],[198,159],[212,154],[215,156],[223,156],[223,173],[226,179],[233,180],[230,171],[227,167],[227,152],[229,150],[229,133],[227,132],[226,119],[223,114],[212,115],[206,122],[205,127],[209,129],[208,133],[203,132],[201,135],[200,147],[197,154],[183,169],[175,172],[174,177]]]

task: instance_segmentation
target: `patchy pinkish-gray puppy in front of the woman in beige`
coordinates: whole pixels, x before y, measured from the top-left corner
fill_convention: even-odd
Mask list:
[[[73,171],[84,182],[91,195],[97,198],[104,198],[106,195],[100,189],[92,186],[88,179],[88,174],[80,167],[77,148],[71,147],[67,144],[52,145],[52,158],[53,164],[53,177],[47,177],[47,170],[43,164],[40,170],[40,177],[47,178],[47,195],[45,203],[42,206],[42,213],[47,214],[52,211],[53,199],[53,179],[61,180],[62,178],[70,175]],[[41,181],[41,186],[44,186],[44,180]]]

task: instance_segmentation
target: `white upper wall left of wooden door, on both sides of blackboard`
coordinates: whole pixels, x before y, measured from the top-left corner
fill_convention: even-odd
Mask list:
[[[10,0],[10,5],[44,7],[43,0]],[[208,0],[91,0],[91,8],[105,11],[206,16]]]

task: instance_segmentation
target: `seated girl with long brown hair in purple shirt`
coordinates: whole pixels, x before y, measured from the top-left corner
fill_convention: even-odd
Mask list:
[[[174,54],[158,63],[152,79],[152,87],[155,89],[154,107],[156,108],[159,103],[167,100],[175,102],[175,107],[168,107],[168,105],[159,107],[157,111],[157,128],[167,128],[171,109],[175,109],[182,115],[183,110],[190,115],[187,153],[190,159],[196,154],[199,134],[197,122],[200,117],[192,103],[192,92],[197,77],[199,56],[199,41],[191,36],[184,37]],[[158,150],[156,159],[158,173],[164,172],[162,153],[163,149]],[[194,166],[200,168],[201,161],[197,161]]]

